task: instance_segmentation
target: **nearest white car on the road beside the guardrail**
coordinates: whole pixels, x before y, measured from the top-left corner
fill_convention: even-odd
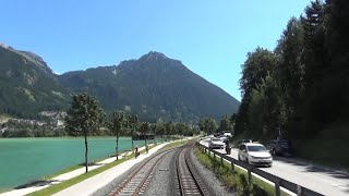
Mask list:
[[[239,146],[238,159],[255,166],[273,166],[273,157],[261,144],[243,143]]]

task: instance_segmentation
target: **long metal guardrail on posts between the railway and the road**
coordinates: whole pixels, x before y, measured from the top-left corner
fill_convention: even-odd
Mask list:
[[[256,175],[260,175],[260,176],[273,182],[275,184],[275,195],[276,196],[281,195],[280,187],[289,189],[290,192],[293,192],[298,196],[323,196],[322,194],[320,194],[317,192],[311,191],[306,187],[303,187],[299,184],[294,184],[292,182],[289,182],[285,179],[276,176],[274,174],[267,173],[267,172],[260,170],[258,168],[255,168],[255,167],[248,164],[245,162],[236,160],[234,158],[229,157],[226,154],[220,154],[216,150],[212,150],[208,147],[200,144],[198,142],[196,142],[195,145],[198,148],[203,149],[205,151],[205,154],[207,154],[207,151],[210,151],[214,155],[214,158],[216,158],[216,156],[220,157],[221,163],[222,163],[224,159],[226,159],[228,162],[230,162],[232,169],[236,164],[236,166],[239,166],[239,167],[248,170],[249,183],[252,183],[252,175],[251,175],[252,173],[255,173]]]

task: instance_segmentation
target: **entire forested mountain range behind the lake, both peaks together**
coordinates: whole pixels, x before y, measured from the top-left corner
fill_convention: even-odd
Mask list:
[[[39,56],[1,46],[0,71],[0,113],[21,118],[67,110],[71,95],[80,91],[96,96],[107,113],[133,112],[148,121],[218,119],[239,107],[237,99],[181,61],[155,51],[119,65],[57,75]]]

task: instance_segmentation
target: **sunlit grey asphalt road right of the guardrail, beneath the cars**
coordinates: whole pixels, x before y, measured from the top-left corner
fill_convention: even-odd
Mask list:
[[[201,143],[207,146],[208,140]],[[216,150],[226,152],[225,149]],[[232,148],[230,157],[238,159],[238,149]],[[291,158],[276,158],[272,168],[260,169],[324,195],[349,195],[349,173],[346,172],[315,167]]]

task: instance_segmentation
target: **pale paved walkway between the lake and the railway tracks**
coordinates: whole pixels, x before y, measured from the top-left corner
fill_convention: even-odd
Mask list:
[[[168,144],[168,143],[166,143]],[[148,154],[142,154],[136,159],[131,159],[125,162],[122,162],[107,171],[104,171],[95,176],[92,176],[89,179],[86,179],[85,181],[82,181],[81,183],[77,183],[73,186],[68,187],[67,189],[63,189],[56,195],[89,195],[94,193],[95,191],[99,189],[100,187],[107,185],[109,182],[111,182],[115,177],[119,176],[123,172],[128,171],[130,168],[132,168],[135,163],[141,162],[145,158],[149,157],[160,148],[163,148],[166,144],[160,144],[152,149],[149,149]],[[140,150],[144,149],[144,147],[141,147]],[[122,156],[119,156],[119,159],[122,159]],[[99,167],[103,167],[107,163],[116,161],[116,157],[108,158],[106,160],[103,160],[100,162],[97,162],[96,166],[89,166],[88,171],[95,170]],[[0,194],[0,196],[19,196],[19,195],[26,195],[33,192],[37,192],[40,189],[44,189],[46,187],[49,187],[51,185],[61,183],[62,181],[67,181],[69,179],[75,177],[77,175],[84,174],[85,168],[81,168],[61,175],[58,175],[53,179],[51,179],[51,183],[46,185],[38,185],[38,186],[31,186],[26,188],[21,189],[13,189],[3,194]]]

